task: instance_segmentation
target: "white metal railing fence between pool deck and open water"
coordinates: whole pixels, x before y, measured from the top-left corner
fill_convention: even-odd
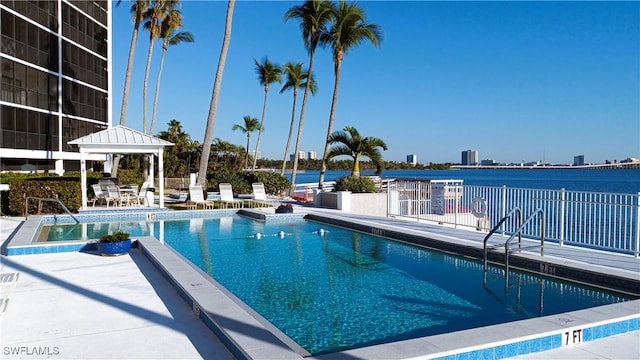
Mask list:
[[[640,257],[640,193],[472,186],[462,185],[459,180],[398,180],[389,184],[387,196],[388,216],[485,232],[515,207],[520,208],[524,219],[542,209],[545,241]],[[500,231],[510,235],[516,228],[516,219],[509,219]],[[540,228],[531,223],[523,229],[522,236],[539,239]]]

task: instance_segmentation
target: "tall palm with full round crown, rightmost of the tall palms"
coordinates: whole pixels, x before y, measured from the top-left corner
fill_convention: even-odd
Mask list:
[[[369,40],[373,46],[378,47],[382,40],[382,34],[378,25],[367,23],[364,11],[355,3],[341,0],[334,17],[331,28],[321,36],[323,45],[333,49],[333,74],[335,83],[333,86],[333,99],[331,100],[331,112],[329,113],[329,126],[327,127],[327,141],[322,156],[322,167],[318,188],[322,189],[324,174],[327,171],[327,156],[329,155],[329,140],[335,120],[336,102],[338,100],[338,84],[340,82],[340,66],[347,51],[357,47],[365,40]]]

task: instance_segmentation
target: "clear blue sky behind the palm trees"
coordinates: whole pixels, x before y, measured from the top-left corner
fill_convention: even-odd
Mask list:
[[[244,146],[245,135],[232,126],[245,115],[260,119],[264,91],[254,58],[308,64],[299,23],[283,21],[301,3],[236,3],[214,137]],[[384,39],[377,49],[365,43],[345,56],[334,130],[349,125],[382,138],[386,160],[416,154],[420,163],[455,163],[466,149],[499,162],[640,158],[640,2],[359,4]],[[177,119],[203,141],[226,6],[183,1],[183,30],[195,42],[167,51],[154,132]],[[133,28],[129,7],[126,0],[113,7],[114,124]],[[127,126],[138,130],[148,48],[141,31],[127,113]],[[157,44],[148,119],[160,54]],[[320,156],[334,85],[329,49],[317,51],[314,76],[319,91],[309,98],[301,149]],[[270,87],[260,145],[270,159],[282,159],[291,119],[292,93],[280,94],[281,88]],[[254,133],[252,149],[256,139]]]

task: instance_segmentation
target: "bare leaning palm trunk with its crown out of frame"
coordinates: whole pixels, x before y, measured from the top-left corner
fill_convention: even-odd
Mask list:
[[[198,180],[200,185],[206,185],[207,181],[207,165],[209,163],[209,154],[211,153],[211,141],[213,140],[213,128],[216,125],[216,111],[218,110],[218,98],[220,97],[220,87],[222,86],[222,74],[224,73],[224,64],[227,60],[227,52],[229,51],[229,42],[231,41],[231,25],[233,22],[233,8],[235,0],[229,0],[227,5],[227,17],[224,26],[224,38],[222,40],[222,48],[220,49],[220,58],[218,59],[218,69],[216,70],[216,78],[213,82],[213,92],[211,94],[211,104],[209,105],[209,115],[207,116],[207,127],[204,132],[204,141],[202,142],[202,156],[200,157],[200,166],[198,167]]]

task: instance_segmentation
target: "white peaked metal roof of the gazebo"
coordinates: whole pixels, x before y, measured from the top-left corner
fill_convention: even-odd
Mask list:
[[[118,125],[68,142],[87,152],[148,153],[154,149],[173,146],[173,143]]]

